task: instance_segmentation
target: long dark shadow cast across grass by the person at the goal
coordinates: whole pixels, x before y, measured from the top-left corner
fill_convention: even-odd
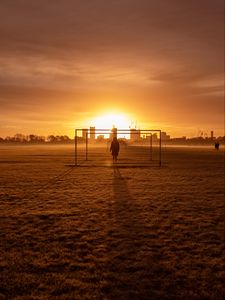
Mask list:
[[[142,221],[142,208],[132,198],[127,181],[116,166],[113,194],[108,216],[108,284],[104,293],[110,299],[157,299],[158,283],[151,278],[153,256],[146,245],[150,236]]]

